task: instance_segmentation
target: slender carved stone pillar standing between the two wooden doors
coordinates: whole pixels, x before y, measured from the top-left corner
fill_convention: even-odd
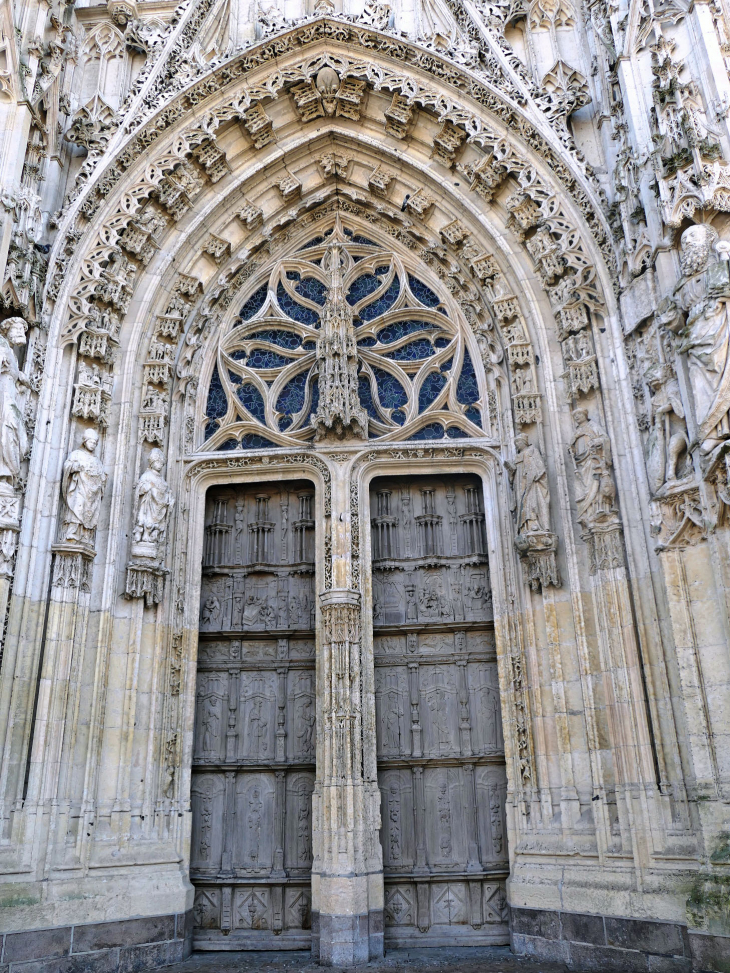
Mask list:
[[[312,940],[325,966],[353,966],[383,954],[374,673],[372,652],[363,651],[359,528],[344,460],[331,460],[317,667]]]

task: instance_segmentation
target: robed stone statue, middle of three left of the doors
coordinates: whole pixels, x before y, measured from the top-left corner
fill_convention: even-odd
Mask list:
[[[102,462],[96,455],[98,445],[99,434],[95,429],[87,429],[81,438],[81,446],[69,453],[63,465],[62,541],[87,545],[94,542],[107,481]]]

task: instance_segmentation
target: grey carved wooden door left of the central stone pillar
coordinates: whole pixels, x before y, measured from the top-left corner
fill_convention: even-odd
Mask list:
[[[190,877],[197,949],[311,945],[314,489],[209,491]]]

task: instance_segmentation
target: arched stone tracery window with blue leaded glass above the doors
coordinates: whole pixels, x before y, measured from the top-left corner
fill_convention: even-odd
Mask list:
[[[327,257],[333,247],[341,264],[336,285]],[[219,344],[205,448],[265,448],[314,438],[328,314],[352,332],[357,397],[370,439],[483,435],[486,393],[459,309],[409,264],[338,223],[253,277]],[[333,308],[337,302],[342,306]]]

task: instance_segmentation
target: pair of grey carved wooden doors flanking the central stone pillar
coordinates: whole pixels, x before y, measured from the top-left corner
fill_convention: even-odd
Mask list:
[[[379,479],[370,501],[386,944],[505,943],[506,776],[481,484]],[[205,531],[195,948],[305,949],[313,486],[212,489]]]

